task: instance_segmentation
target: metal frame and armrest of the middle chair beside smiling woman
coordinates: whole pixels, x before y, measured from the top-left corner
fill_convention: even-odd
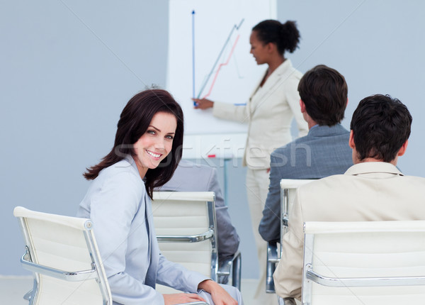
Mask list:
[[[214,192],[154,192],[159,196],[159,193],[164,194],[178,194],[178,196],[183,196],[185,193],[194,194],[194,193],[203,193],[209,194],[212,198],[212,201],[205,201],[208,209],[208,231],[199,233],[196,235],[157,235],[158,243],[198,243],[204,240],[210,240],[211,245],[211,272],[210,277],[212,280],[217,282],[219,276],[229,276],[232,275],[232,286],[241,289],[241,270],[242,270],[242,257],[241,253],[237,251],[225,264],[218,268],[218,249],[217,249],[217,220],[215,216],[215,194]],[[161,200],[161,199],[160,199]],[[184,201],[182,199],[182,201]]]

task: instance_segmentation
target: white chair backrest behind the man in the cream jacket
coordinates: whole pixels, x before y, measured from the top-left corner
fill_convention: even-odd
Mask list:
[[[302,304],[425,299],[425,221],[306,222]]]

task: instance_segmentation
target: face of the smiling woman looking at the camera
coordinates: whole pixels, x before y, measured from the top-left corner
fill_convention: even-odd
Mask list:
[[[134,144],[136,162],[140,177],[147,170],[154,169],[170,153],[176,133],[177,120],[172,113],[155,113],[147,131]]]

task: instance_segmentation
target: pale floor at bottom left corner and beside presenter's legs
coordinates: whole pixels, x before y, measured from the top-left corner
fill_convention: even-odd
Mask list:
[[[251,305],[256,282],[256,279],[242,279],[241,292],[245,305]],[[33,277],[0,276],[0,304],[28,305],[28,301],[22,297],[32,288]]]

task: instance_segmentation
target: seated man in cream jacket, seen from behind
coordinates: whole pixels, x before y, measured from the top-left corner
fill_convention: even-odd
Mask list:
[[[396,167],[411,124],[412,116],[398,99],[379,94],[358,104],[349,139],[354,165],[345,174],[297,189],[273,275],[278,295],[300,299],[305,221],[425,220],[425,178],[404,176]]]

